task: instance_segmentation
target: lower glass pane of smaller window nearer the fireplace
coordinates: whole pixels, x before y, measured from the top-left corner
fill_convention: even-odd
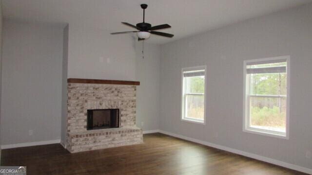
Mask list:
[[[185,95],[186,117],[204,119],[204,95]]]

